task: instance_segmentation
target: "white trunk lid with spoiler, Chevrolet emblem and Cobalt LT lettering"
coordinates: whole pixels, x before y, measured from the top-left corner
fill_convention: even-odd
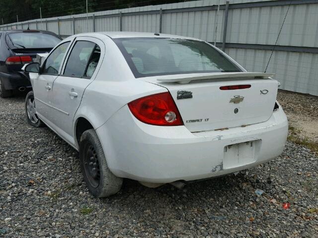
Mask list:
[[[197,132],[268,120],[273,113],[279,85],[269,76],[273,74],[229,72],[164,75],[144,80],[167,88],[184,125],[191,132]],[[220,89],[231,85],[250,87]]]

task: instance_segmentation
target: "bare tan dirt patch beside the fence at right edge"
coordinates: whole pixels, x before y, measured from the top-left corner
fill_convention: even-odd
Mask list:
[[[277,100],[289,121],[288,139],[318,153],[318,97],[279,91]]]

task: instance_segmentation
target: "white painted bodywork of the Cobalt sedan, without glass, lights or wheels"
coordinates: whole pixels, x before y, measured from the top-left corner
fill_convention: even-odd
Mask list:
[[[110,171],[117,177],[146,183],[217,177],[257,166],[281,154],[288,121],[280,105],[273,111],[279,85],[276,80],[268,78],[268,74],[263,78],[261,73],[248,74],[212,45],[237,65],[242,74],[231,77],[231,73],[193,73],[136,78],[113,41],[134,37],[200,41],[136,32],[71,36],[61,44],[70,41],[70,49],[75,41],[94,42],[100,47],[100,60],[90,79],[30,73],[39,119],[76,150],[79,150],[77,123],[81,118],[86,119],[99,137]],[[69,54],[70,50],[64,56],[59,74],[64,71]],[[255,75],[260,78],[254,78]],[[213,80],[205,80],[211,78]],[[220,90],[224,85],[237,84],[250,84],[253,90]],[[193,98],[178,100],[179,90],[191,91]],[[260,92],[262,90],[265,93]],[[127,105],[163,92],[170,92],[184,125],[144,123],[134,117]],[[237,95],[244,100],[230,103]]]

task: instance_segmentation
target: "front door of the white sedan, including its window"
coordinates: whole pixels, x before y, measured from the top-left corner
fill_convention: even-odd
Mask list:
[[[71,41],[64,42],[56,47],[47,57],[41,67],[41,72],[33,79],[33,91],[37,115],[45,122],[49,122],[52,105],[50,102],[53,81],[58,77],[62,62],[65,58]]]

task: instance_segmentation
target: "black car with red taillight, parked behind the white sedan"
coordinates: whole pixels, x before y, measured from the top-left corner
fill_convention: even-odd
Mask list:
[[[31,88],[30,80],[19,73],[21,67],[35,61],[36,54],[49,53],[60,41],[58,35],[49,31],[0,31],[0,97]]]

